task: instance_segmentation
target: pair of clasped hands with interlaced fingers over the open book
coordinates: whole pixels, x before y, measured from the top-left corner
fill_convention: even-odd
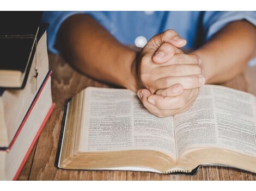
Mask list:
[[[138,56],[138,97],[158,117],[173,116],[187,110],[205,84],[200,58],[185,54],[186,45],[175,31],[154,36]]]

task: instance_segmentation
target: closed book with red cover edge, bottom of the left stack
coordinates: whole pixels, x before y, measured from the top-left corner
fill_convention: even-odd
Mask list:
[[[47,75],[15,143],[10,150],[0,151],[0,180],[16,180],[19,177],[53,107],[51,77]]]

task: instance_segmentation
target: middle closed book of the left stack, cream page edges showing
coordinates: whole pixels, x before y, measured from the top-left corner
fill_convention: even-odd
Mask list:
[[[3,89],[0,91],[0,150],[10,149],[14,137],[19,134],[28,111],[40,92],[44,79],[50,73],[46,46],[46,25],[41,25],[36,59],[28,73],[28,81],[22,90]]]

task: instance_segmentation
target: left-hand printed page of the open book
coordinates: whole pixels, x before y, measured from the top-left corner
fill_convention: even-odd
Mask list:
[[[130,90],[86,88],[81,151],[156,150],[175,159],[173,117],[149,113]]]

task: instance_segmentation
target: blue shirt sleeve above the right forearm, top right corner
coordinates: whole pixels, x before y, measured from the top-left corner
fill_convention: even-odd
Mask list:
[[[212,35],[228,23],[239,20],[247,20],[256,26],[256,11],[206,11],[202,23],[205,41],[209,41]]]

